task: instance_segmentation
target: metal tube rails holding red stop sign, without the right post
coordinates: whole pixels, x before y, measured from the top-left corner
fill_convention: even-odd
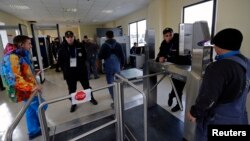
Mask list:
[[[104,87],[101,87],[101,88],[94,89],[94,90],[92,90],[92,92],[99,91],[99,90],[106,89],[106,88],[113,87],[113,86],[116,86],[116,85],[115,85],[115,84],[109,84],[109,85],[107,85],[107,86],[104,86]],[[41,104],[39,105],[39,108],[38,108],[38,112],[39,112],[39,121],[40,121],[41,129],[42,129],[42,136],[43,136],[43,140],[44,140],[44,141],[48,141],[48,140],[49,140],[49,133],[48,133],[48,131],[46,130],[46,129],[47,129],[47,122],[46,122],[46,117],[45,117],[45,113],[44,113],[43,107],[44,107],[46,104],[56,103],[56,102],[59,102],[59,101],[62,101],[62,100],[68,99],[68,98],[71,98],[71,96],[70,96],[70,95],[67,95],[67,96],[64,96],[64,97],[61,97],[61,98],[56,98],[56,99],[44,101],[43,103],[41,103]],[[117,121],[117,120],[115,120],[115,121]],[[114,122],[114,121],[112,121],[112,122]],[[110,123],[111,123],[111,122],[110,122]],[[93,129],[93,130],[87,132],[86,134],[89,134],[90,132],[93,132],[93,131],[97,131],[97,130],[99,130],[100,128],[104,128],[104,127],[106,127],[106,125],[108,125],[108,124],[110,124],[110,123],[107,123],[107,124],[103,125],[102,127],[98,127],[98,128],[96,128],[96,129]],[[84,134],[84,135],[86,135],[86,134]],[[76,138],[77,138],[77,137],[76,137]]]

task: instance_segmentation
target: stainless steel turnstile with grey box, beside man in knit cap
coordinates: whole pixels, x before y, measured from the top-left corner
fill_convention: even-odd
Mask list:
[[[150,35],[150,34],[148,34]],[[150,38],[150,37],[148,37]],[[191,106],[195,103],[195,99],[198,95],[199,88],[201,86],[202,77],[206,67],[212,61],[212,47],[207,41],[210,40],[210,34],[208,25],[206,22],[200,21],[194,24],[181,24],[180,25],[180,55],[187,55],[191,53],[192,65],[176,65],[173,63],[157,63],[154,61],[150,50],[154,49],[154,46],[150,46],[145,50],[146,54],[146,66],[144,68],[143,75],[149,75],[159,72],[165,72],[163,77],[157,82],[157,76],[147,77],[144,79],[144,90],[147,90],[146,96],[148,106],[153,107],[157,105],[157,89],[155,87],[160,83],[165,76],[169,78],[175,78],[181,81],[186,81],[184,92],[186,94],[185,101],[185,113],[189,112]],[[148,42],[147,42],[148,43]],[[198,44],[199,43],[199,44]],[[207,43],[207,44],[206,44]],[[150,48],[151,47],[151,48]],[[171,79],[169,79],[172,88],[174,89],[177,103],[180,109],[183,110],[183,105],[180,102],[176,88]],[[186,140],[194,140],[195,124],[187,121],[184,118],[184,130],[183,138]],[[175,129],[173,129],[175,130]]]

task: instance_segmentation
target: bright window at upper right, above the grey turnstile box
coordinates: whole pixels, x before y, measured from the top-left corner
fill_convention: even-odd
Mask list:
[[[215,24],[216,0],[207,0],[183,8],[183,23],[207,21],[210,34],[213,37]]]

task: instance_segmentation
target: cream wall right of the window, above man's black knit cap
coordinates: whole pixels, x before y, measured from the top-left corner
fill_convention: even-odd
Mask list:
[[[243,34],[241,52],[250,58],[250,1],[218,0],[216,32],[231,27]]]

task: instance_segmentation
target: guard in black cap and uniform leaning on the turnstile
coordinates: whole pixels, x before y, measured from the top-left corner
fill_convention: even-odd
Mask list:
[[[163,38],[164,40],[160,46],[160,52],[157,55],[156,61],[163,62],[172,62],[180,65],[190,65],[191,64],[191,56],[180,56],[179,55],[179,34],[173,33],[172,28],[165,28],[163,30]],[[172,78],[174,86],[176,87],[177,94],[182,99],[182,91],[185,86],[184,81],[180,81],[178,79]],[[174,89],[169,94],[168,105],[172,106],[173,98],[175,97]],[[180,110],[180,106],[178,103],[171,109],[172,112],[176,112]]]

